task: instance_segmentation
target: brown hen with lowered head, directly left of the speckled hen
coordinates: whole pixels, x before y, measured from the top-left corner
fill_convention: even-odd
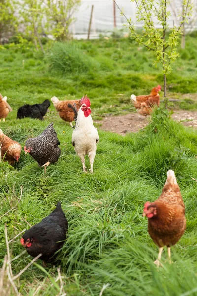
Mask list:
[[[21,153],[21,145],[3,134],[0,129],[0,154],[1,158],[13,165],[18,161]]]

